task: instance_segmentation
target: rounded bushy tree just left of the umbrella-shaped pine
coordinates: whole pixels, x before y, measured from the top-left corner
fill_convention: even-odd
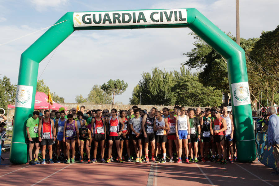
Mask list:
[[[103,91],[100,85],[93,85],[87,100],[93,104],[110,104],[112,102],[112,96]]]

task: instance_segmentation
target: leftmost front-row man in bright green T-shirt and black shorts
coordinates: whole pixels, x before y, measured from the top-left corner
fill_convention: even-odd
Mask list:
[[[26,133],[28,136],[29,140],[29,157],[30,157],[30,162],[29,164],[35,165],[36,163],[40,163],[38,160],[38,154],[39,154],[39,136],[38,136],[38,125],[39,125],[39,112],[34,111],[33,116],[29,117],[28,120],[26,121]],[[36,146],[35,149],[35,159],[33,155],[33,148],[34,144]]]

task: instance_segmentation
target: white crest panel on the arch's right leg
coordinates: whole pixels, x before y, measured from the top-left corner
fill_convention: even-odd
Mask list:
[[[248,82],[232,83],[233,106],[251,104]]]

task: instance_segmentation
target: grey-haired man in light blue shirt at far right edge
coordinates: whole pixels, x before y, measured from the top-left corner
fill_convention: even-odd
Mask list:
[[[271,175],[279,175],[279,116],[276,116],[274,107],[268,107],[268,143],[273,146],[274,158],[277,163],[277,170]]]

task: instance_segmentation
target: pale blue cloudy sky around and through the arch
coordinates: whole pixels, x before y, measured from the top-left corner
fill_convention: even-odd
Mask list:
[[[259,37],[262,31],[274,30],[278,24],[277,0],[241,0],[240,36]],[[234,0],[184,1],[69,1],[69,0],[0,0],[0,44],[51,26],[68,11],[113,11],[137,9],[197,8],[225,32],[235,35]],[[0,46],[0,78],[6,75],[17,83],[20,55],[46,30]],[[115,98],[129,102],[142,72],[154,67],[173,70],[187,60],[193,39],[188,28],[76,31],[39,65],[38,77],[52,92],[75,102],[76,95],[87,97],[94,84],[122,79],[128,88]],[[168,47],[166,47],[168,46]],[[82,53],[89,53],[90,57]],[[50,60],[51,56],[52,59]],[[49,62],[50,60],[50,62]],[[46,67],[42,73],[43,69]],[[57,81],[64,78],[63,81]],[[72,88],[79,86],[82,89]],[[82,91],[80,91],[82,90]]]

